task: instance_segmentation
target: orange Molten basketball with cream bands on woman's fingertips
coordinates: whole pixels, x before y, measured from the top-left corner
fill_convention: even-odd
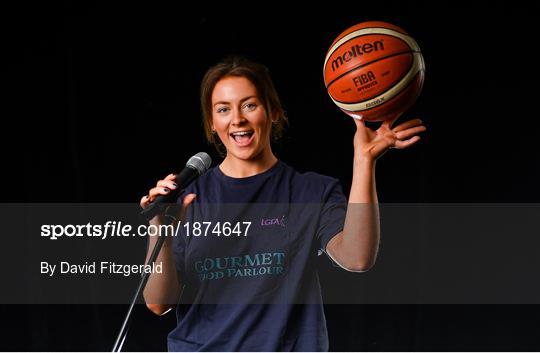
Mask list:
[[[363,22],[341,33],[324,60],[324,84],[353,118],[382,121],[407,110],[424,83],[420,47],[401,28]]]

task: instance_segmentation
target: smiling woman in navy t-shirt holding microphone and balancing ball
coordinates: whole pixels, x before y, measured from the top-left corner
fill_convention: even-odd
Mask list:
[[[225,158],[186,188],[182,217],[211,220],[213,230],[219,220],[253,222],[248,234],[238,229],[243,234],[233,237],[220,236],[219,226],[207,236],[181,227],[157,259],[163,272],[150,277],[147,306],[162,315],[183,292],[188,304],[177,305],[169,350],[328,350],[314,259],[325,252],[355,272],[373,265],[379,244],[375,161],[389,148],[416,143],[425,127],[418,119],[392,127],[394,119],[372,131],[355,120],[347,202],[336,179],[297,173],[273,154],[271,138],[287,121],[264,66],[229,59],[206,73],[201,88],[207,138]],[[141,206],[177,188],[173,180],[172,174],[160,180]],[[231,206],[246,204],[260,206],[254,213]],[[234,218],[238,212],[241,219]],[[152,222],[159,224],[159,217]]]

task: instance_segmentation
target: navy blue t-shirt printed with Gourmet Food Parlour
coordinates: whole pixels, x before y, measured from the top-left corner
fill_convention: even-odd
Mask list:
[[[173,241],[184,289],[169,351],[328,350],[315,260],[343,229],[339,181],[278,161],[246,178],[214,167],[187,193],[197,198]]]

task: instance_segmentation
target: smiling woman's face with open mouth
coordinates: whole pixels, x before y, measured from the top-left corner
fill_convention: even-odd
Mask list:
[[[212,125],[227,156],[249,160],[270,148],[272,122],[257,89],[245,77],[218,81],[212,92]]]

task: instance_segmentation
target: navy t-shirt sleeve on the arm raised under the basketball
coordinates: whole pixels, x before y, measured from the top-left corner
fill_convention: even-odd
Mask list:
[[[318,255],[326,251],[328,242],[343,230],[347,213],[347,198],[337,179],[326,186],[317,229]]]

